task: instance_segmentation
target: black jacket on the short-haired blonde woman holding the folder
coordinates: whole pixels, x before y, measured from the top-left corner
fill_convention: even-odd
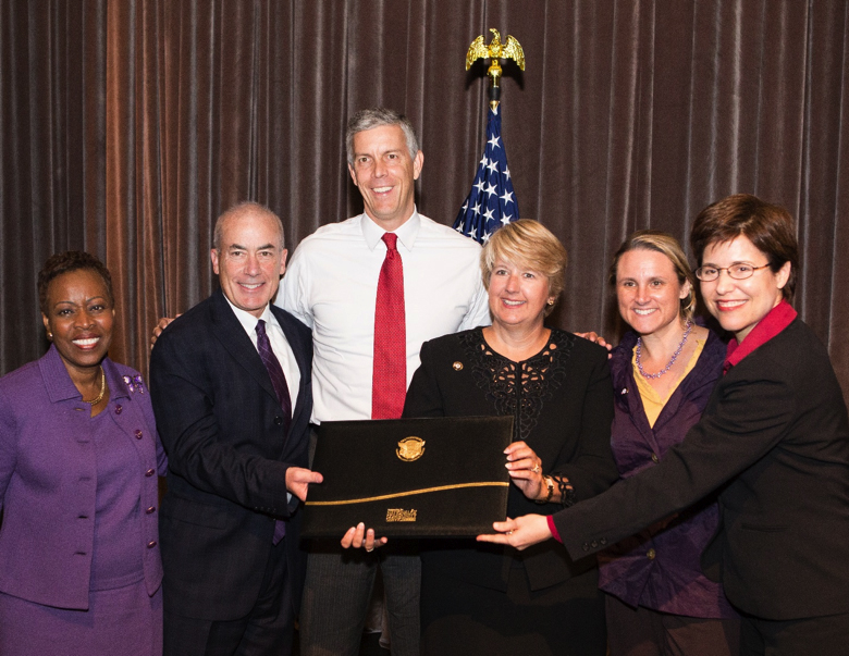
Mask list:
[[[544,357],[534,356],[526,361],[544,381],[527,386],[529,394],[518,408],[512,404],[515,397],[491,375],[492,367],[509,360],[481,354],[481,329],[426,342],[421,367],[407,391],[404,416],[514,414],[515,440],[528,443],[542,460],[545,473],[567,476],[577,499],[599,494],[618,478],[610,446],[613,387],[607,351],[556,329],[551,342],[556,344],[551,351],[553,360],[546,362]],[[509,487],[509,517],[552,513],[558,508],[557,504],[534,504],[515,485]],[[440,571],[502,591],[507,590],[514,559],[522,562],[531,590],[561,583],[595,567],[595,558],[573,561],[553,542],[517,552],[475,540],[429,540],[422,543],[421,558],[423,575]]]

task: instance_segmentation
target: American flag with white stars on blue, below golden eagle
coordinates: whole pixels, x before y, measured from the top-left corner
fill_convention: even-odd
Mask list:
[[[507,153],[501,140],[500,107],[490,109],[483,159],[478,165],[471,191],[454,222],[454,230],[481,244],[485,244],[502,225],[519,218]]]

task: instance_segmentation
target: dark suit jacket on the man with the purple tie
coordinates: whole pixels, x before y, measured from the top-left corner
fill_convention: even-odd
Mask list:
[[[300,599],[304,554],[286,470],[307,467],[312,407],[309,330],[271,306],[295,354],[300,385],[288,435],[256,347],[219,290],[177,318],[150,358],[150,391],[169,454],[160,540],[165,609],[244,617],[259,595],[274,518],[287,519],[286,567]]]

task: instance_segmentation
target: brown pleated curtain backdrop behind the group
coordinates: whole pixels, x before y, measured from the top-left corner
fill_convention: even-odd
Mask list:
[[[67,248],[110,267],[111,355],[146,371],[157,319],[213,287],[227,206],[269,205],[290,248],[360,211],[343,133],[364,107],[411,117],[419,209],[451,224],[484,138],[465,53],[489,27],[526,51],[503,137],[522,215],[570,253],[554,323],[617,338],[622,239],[686,240],[753,193],[798,220],[796,307],[849,391],[846,0],[3,0],[0,373],[44,352],[36,275]]]

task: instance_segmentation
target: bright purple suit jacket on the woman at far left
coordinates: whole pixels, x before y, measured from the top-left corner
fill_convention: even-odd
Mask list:
[[[147,386],[137,371],[103,360],[115,438],[130,440],[140,476],[145,584],[162,583],[158,480],[165,473]],[[89,412],[54,346],[0,379],[0,592],[47,606],[88,608],[97,465]]]

